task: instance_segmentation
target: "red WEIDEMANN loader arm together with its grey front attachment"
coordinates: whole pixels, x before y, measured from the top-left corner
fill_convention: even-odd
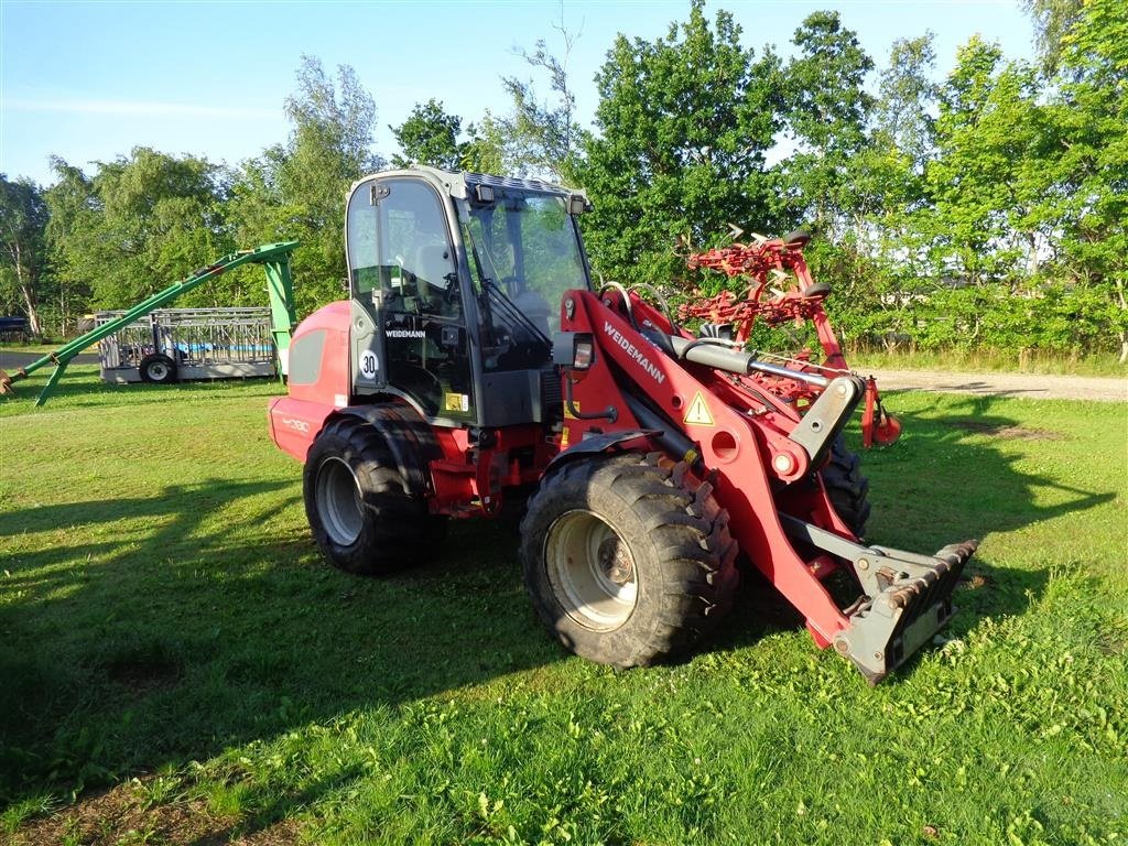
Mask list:
[[[865,384],[856,377],[822,379],[822,393],[800,416],[743,387],[749,373],[774,365],[670,336],[645,303],[631,310],[615,305],[589,291],[565,296],[562,329],[590,336],[594,354],[583,369],[564,368],[566,395],[583,412],[565,420],[564,442],[640,429],[632,409],[644,397],[650,416],[642,428],[661,425],[676,435],[653,437],[667,452],[663,443],[691,444],[686,456],[671,458],[693,458],[712,481],[740,548],[803,615],[816,643],[834,644],[870,682],[907,660],[951,616],[952,590],[976,544],[935,556],[867,547],[835,511],[819,472]],[[785,371],[775,373],[782,378],[812,378],[777,370]],[[839,567],[848,569],[862,593],[845,609],[823,587]]]

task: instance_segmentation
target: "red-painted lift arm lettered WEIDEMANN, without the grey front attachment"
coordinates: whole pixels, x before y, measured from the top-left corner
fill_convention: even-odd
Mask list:
[[[597,337],[597,362],[602,364],[572,377],[573,404],[592,411],[622,408],[622,389],[611,372],[632,373],[634,385],[669,417],[679,420],[693,449],[699,450],[691,458],[710,468],[715,494],[729,511],[730,530],[740,548],[805,617],[816,643],[828,646],[848,627],[821,583],[838,565],[825,554],[800,556],[779,522],[779,511],[843,537],[854,535],[812,474],[807,453],[787,437],[800,414],[787,403],[769,402],[750,376],[719,373],[661,355],[622,309],[605,305],[590,291],[572,291],[569,299],[575,308],[571,318],[565,314],[564,329]],[[614,306],[613,299],[608,302]],[[667,333],[672,328],[637,297],[632,296],[631,310],[641,326]],[[691,338],[686,333],[682,336]],[[640,360],[641,351],[650,356]],[[620,413],[614,422],[566,416],[564,423],[565,444],[582,442],[592,432],[645,428],[629,412]],[[790,486],[803,478],[811,483]]]

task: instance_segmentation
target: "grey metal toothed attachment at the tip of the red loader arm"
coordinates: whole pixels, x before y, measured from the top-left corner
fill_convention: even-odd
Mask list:
[[[875,685],[932,640],[951,618],[952,592],[978,540],[950,544],[935,555],[862,546],[781,514],[787,534],[851,562],[865,596],[846,608],[848,626],[834,636],[835,651]]]

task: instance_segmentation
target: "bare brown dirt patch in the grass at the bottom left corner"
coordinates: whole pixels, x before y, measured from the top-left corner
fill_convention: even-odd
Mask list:
[[[289,846],[299,841],[294,820],[281,820],[257,831],[247,831],[236,817],[220,817],[202,799],[173,800],[148,805],[146,786],[153,777],[118,784],[97,795],[85,796],[50,817],[32,820],[12,835],[11,846],[80,843],[82,846],[117,846],[125,843],[168,846]]]

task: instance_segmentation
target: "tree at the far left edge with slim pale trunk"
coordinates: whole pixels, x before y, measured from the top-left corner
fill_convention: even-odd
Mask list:
[[[47,205],[30,179],[10,182],[0,174],[0,307],[18,303],[33,335],[43,334],[39,284],[44,275]]]

